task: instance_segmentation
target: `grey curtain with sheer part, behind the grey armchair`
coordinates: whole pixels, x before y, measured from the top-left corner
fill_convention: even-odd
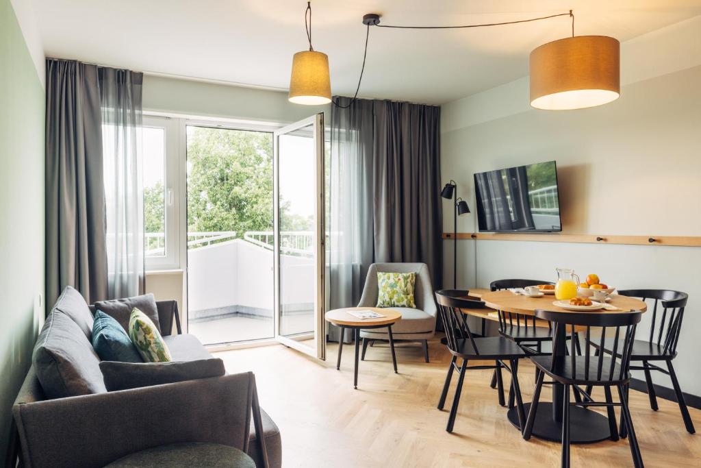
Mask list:
[[[331,308],[358,304],[374,262],[424,262],[442,283],[439,123],[437,106],[359,99],[332,108]],[[329,339],[338,336],[329,327]]]

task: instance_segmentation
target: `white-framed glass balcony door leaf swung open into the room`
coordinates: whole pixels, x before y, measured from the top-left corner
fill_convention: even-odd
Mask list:
[[[275,131],[275,339],[325,359],[324,117]]]

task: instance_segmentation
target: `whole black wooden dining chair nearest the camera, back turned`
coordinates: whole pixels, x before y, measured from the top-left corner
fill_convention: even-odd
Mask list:
[[[641,312],[581,312],[573,314],[571,312],[536,310],[536,316],[539,319],[551,321],[557,327],[565,327],[566,335],[569,331],[571,349],[569,350],[569,356],[555,356],[555,354],[552,354],[552,356],[531,356],[531,361],[538,369],[538,378],[536,379],[536,389],[533,392],[533,403],[531,403],[526,426],[523,430],[524,439],[527,441],[531,438],[533,422],[536,420],[536,411],[538,410],[540,390],[543,388],[543,379],[547,374],[552,377],[554,382],[564,385],[562,467],[570,466],[569,412],[571,405],[606,406],[608,425],[611,429],[611,440],[618,440],[618,428],[613,407],[620,406],[621,418],[628,433],[628,443],[633,457],[633,464],[635,467],[642,467],[643,459],[635,436],[625,393],[625,388],[630,381],[629,367],[635,328],[640,321]],[[604,356],[603,353],[599,354],[599,356],[591,356],[592,347],[590,346],[585,346],[584,356],[577,356],[575,349],[572,349],[572,343],[574,342],[572,338],[575,334],[576,326],[586,327],[587,343],[598,340],[599,346],[603,347],[604,343],[607,342],[606,336],[611,337],[611,357]],[[592,327],[600,328],[601,335],[598,338],[592,338]],[[556,338],[553,343],[553,349],[556,349],[558,345]],[[585,392],[581,388],[583,386],[587,386],[587,388],[594,386],[604,387],[606,401],[594,401],[590,393]],[[583,392],[584,401],[570,403],[569,392],[571,387],[577,389],[578,392]],[[618,389],[620,403],[613,402],[611,387]]]

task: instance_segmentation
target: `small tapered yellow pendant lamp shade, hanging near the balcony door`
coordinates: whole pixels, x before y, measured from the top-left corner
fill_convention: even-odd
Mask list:
[[[290,102],[321,105],[331,102],[329,57],[317,51],[302,51],[292,58]]]

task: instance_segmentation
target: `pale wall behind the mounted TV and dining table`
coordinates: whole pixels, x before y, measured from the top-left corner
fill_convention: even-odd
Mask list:
[[[568,234],[701,236],[701,17],[622,44],[619,100],[547,112],[528,106],[520,79],[442,107],[442,173],[475,207],[472,174],[556,160]],[[452,231],[444,203],[444,231]],[[458,232],[477,229],[474,215]],[[452,277],[452,241],[445,274]],[[701,395],[701,248],[458,241],[458,286],[508,277],[554,279],[555,267],[598,273],[618,288],[673,288],[690,295],[675,366],[685,392]],[[646,336],[646,316],[639,333]],[[663,375],[655,382],[671,386]]]

